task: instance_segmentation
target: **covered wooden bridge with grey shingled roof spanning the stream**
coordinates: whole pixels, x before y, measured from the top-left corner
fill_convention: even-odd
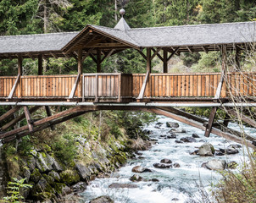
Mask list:
[[[255,22],[221,25],[186,25],[131,29],[125,19],[113,28],[87,25],[81,32],[31,36],[0,36],[0,58],[18,59],[17,76],[0,76],[0,105],[9,106],[0,115],[3,143],[51,128],[70,118],[98,110],[147,111],[174,118],[230,140],[255,147],[255,138],[228,128],[234,107],[255,107],[256,73],[242,72],[241,52],[254,49]],[[205,34],[207,33],[207,34]],[[101,73],[106,58],[128,48],[136,49],[147,63],[145,74]],[[221,52],[221,73],[168,73],[168,62],[181,52]],[[236,53],[234,71],[227,67],[227,52]],[[47,58],[75,58],[77,74],[43,75]],[[83,62],[90,57],[97,73],[84,74]],[[158,57],[163,73],[152,73]],[[23,59],[38,59],[38,75],[23,75]],[[49,106],[74,106],[52,115]],[[39,107],[47,117],[32,118]],[[175,107],[211,107],[209,119],[198,118]],[[23,108],[24,112],[13,118]],[[214,123],[217,109],[224,109],[223,123]],[[12,120],[8,120],[13,118]],[[256,128],[247,115],[242,121]],[[26,124],[14,129],[15,123]],[[246,138],[246,140],[244,139]]]

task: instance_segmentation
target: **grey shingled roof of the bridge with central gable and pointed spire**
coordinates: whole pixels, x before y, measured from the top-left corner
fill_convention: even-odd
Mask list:
[[[256,41],[256,22],[209,25],[181,25],[131,29],[125,19],[114,27],[87,25],[80,32],[0,36],[0,58],[63,57],[77,48],[84,53],[100,47],[103,52],[126,48],[165,47],[179,52],[218,51],[219,45],[234,49],[235,45],[248,45]],[[95,50],[92,54],[96,54]]]

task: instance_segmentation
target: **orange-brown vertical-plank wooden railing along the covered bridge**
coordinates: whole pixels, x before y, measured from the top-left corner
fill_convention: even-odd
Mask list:
[[[150,74],[144,98],[161,101],[211,100],[220,73]],[[146,74],[82,74],[1,76],[1,101],[132,102],[139,96]],[[256,73],[227,74],[220,97],[256,95]]]

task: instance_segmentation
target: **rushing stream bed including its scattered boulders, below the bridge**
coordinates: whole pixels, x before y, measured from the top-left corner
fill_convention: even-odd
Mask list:
[[[229,125],[238,128],[236,123]],[[216,171],[236,170],[246,159],[241,145],[170,118],[159,117],[157,123],[145,127],[156,140],[150,150],[138,151],[125,167],[110,178],[96,178],[81,193],[82,202],[170,203],[200,198],[198,185],[209,189],[217,183]],[[255,129],[246,128],[248,134]],[[108,198],[108,201],[101,201]],[[99,198],[97,200],[93,200]]]

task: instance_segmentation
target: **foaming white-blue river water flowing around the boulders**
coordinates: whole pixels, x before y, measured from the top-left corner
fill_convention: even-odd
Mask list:
[[[209,138],[203,136],[204,132],[200,129],[193,128],[184,123],[176,122],[171,118],[159,116],[158,122],[163,123],[160,129],[155,128],[156,123],[152,123],[145,129],[152,130],[150,138],[158,140],[148,151],[139,151],[142,154],[137,155],[135,159],[129,160],[125,167],[121,167],[117,172],[113,173],[111,178],[96,178],[92,181],[84,193],[81,194],[83,202],[101,195],[109,195],[115,203],[183,203],[190,196],[197,199],[198,185],[203,185],[206,190],[210,189],[212,183],[217,183],[220,174],[209,169],[201,167],[203,162],[211,159],[225,160],[226,162],[235,161],[242,163],[246,156],[243,156],[243,150],[240,149],[236,155],[225,156],[198,156],[190,155],[190,152],[197,150],[197,147],[209,142],[214,148],[226,148],[228,145],[236,144],[230,140],[211,134]],[[161,135],[167,135],[170,128],[166,127],[166,122],[179,123],[178,131],[186,130],[186,133],[175,133],[176,139],[164,139]],[[236,123],[230,123],[229,127],[238,129]],[[256,134],[256,129],[246,128],[248,134]],[[181,137],[192,136],[198,134],[197,142],[193,143],[176,143]],[[161,159],[168,158],[173,163],[177,162],[181,167],[172,167],[159,169],[153,167],[153,163],[160,162]],[[153,173],[139,173],[142,178],[147,181],[132,183],[129,178],[135,173],[131,172],[132,167],[141,165],[153,169]],[[150,181],[152,178],[159,179],[159,182]],[[109,189],[109,185],[113,183],[120,184],[136,184],[135,189]],[[200,198],[200,197],[198,197]]]

